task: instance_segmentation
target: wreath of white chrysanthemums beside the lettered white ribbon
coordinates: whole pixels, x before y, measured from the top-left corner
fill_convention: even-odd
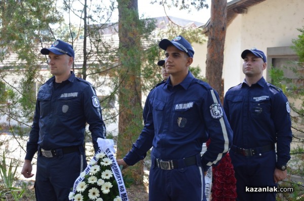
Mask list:
[[[110,168],[112,161],[104,154],[96,154],[97,164],[92,165],[89,174],[81,173],[84,180],[79,182],[76,192],[69,193],[75,201],[122,201],[117,181]]]

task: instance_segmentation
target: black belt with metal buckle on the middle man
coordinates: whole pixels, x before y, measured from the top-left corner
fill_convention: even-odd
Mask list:
[[[196,156],[180,159],[183,161],[183,164],[185,166],[192,166],[197,164]],[[178,168],[178,161],[179,160],[161,160],[161,159],[155,159],[155,163],[157,164],[157,167],[159,167],[162,170],[173,170]]]

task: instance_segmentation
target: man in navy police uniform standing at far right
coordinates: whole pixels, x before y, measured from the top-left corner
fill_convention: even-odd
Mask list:
[[[241,57],[245,80],[224,97],[224,110],[234,132],[230,157],[237,200],[276,200],[275,192],[246,192],[246,188],[274,188],[286,178],[292,140],[290,107],[282,90],[263,78],[265,54],[252,48]]]

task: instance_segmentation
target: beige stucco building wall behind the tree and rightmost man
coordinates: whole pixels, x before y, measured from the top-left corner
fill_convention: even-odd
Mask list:
[[[266,0],[249,7],[246,14],[239,14],[233,20],[225,37],[224,92],[244,79],[241,58],[244,49],[256,47],[267,54],[267,47],[292,45],[291,40],[300,34],[297,28],[304,26],[303,11],[303,0]],[[203,60],[196,62],[205,69],[207,42],[201,48],[195,48],[199,54],[195,53],[194,60]],[[264,77],[267,78],[267,71],[264,71]]]

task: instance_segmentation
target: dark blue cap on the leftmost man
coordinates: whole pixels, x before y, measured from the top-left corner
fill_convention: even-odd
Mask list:
[[[72,45],[62,40],[55,40],[50,48],[42,48],[41,54],[48,55],[50,53],[54,53],[55,55],[68,55],[74,59],[75,53]]]

